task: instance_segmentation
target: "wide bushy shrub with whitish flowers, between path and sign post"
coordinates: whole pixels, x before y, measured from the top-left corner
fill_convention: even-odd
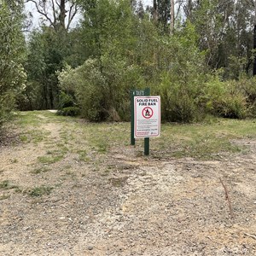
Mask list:
[[[130,90],[143,78],[140,68],[103,55],[101,61],[87,60],[75,69],[59,74],[62,90],[73,91],[81,115],[92,121],[127,120],[130,115]]]

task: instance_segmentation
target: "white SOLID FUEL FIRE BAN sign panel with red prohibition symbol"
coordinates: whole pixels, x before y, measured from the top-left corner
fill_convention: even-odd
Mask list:
[[[134,113],[134,137],[160,136],[160,96],[135,96]]]

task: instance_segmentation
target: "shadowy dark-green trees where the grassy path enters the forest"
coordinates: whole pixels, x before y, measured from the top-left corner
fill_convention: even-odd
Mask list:
[[[57,72],[72,54],[69,33],[65,37],[51,26],[42,26],[30,34],[27,43],[26,72],[28,85],[26,96],[29,108],[57,108],[59,86]]]

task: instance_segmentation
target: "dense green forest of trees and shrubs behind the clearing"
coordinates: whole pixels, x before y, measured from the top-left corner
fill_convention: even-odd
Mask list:
[[[145,87],[161,96],[168,122],[253,118],[255,5],[0,0],[0,127],[15,109],[129,120],[130,91]]]

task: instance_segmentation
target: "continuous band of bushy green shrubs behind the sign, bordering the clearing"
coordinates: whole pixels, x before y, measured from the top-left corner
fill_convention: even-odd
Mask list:
[[[201,121],[209,114],[242,119],[256,113],[254,80],[223,81],[221,70],[209,74],[189,22],[172,37],[154,39],[154,47],[148,46],[152,60],[146,55],[136,60],[134,52],[122,55],[116,44],[108,44],[96,59],[59,73],[66,93],[61,94],[61,108],[79,107],[93,121],[128,120],[130,90],[145,88],[147,80],[151,93],[161,96],[162,119],[167,121]]]

